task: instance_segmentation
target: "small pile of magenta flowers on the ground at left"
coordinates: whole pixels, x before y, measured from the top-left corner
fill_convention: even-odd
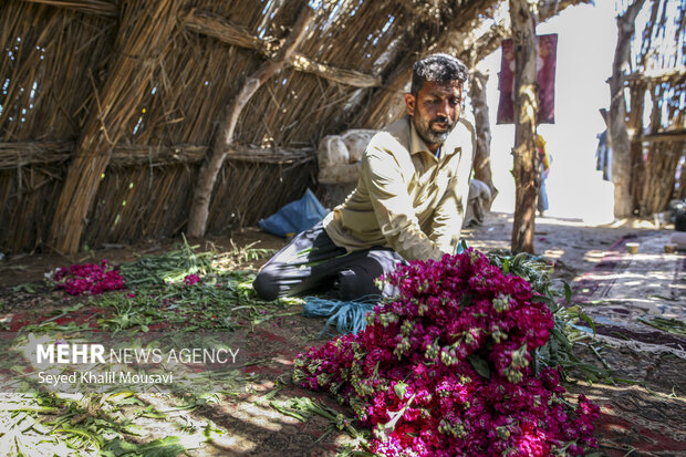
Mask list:
[[[124,278],[118,269],[110,267],[107,260],[100,264],[84,263],[58,268],[53,280],[58,289],[71,295],[90,293],[96,295],[108,290],[124,289]]]

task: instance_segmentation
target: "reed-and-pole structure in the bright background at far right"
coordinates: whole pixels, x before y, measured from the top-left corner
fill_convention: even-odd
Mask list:
[[[648,217],[686,198],[686,1],[617,6],[607,118],[614,212]]]

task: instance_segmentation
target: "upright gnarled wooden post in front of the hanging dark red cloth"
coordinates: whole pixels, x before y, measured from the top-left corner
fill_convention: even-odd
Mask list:
[[[512,49],[514,51],[514,221],[512,252],[533,252],[537,179],[536,118],[538,115],[534,6],[510,0]]]

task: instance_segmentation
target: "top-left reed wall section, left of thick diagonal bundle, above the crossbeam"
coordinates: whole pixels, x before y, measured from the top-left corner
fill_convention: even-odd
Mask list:
[[[67,9],[3,2],[0,9],[0,141],[73,141],[87,89],[98,83],[114,22]]]

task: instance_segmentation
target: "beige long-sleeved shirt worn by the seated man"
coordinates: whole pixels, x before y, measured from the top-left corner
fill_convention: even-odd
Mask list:
[[[374,135],[357,187],[324,218],[347,250],[388,247],[406,260],[438,260],[459,243],[476,137],[460,120],[437,158],[409,116]]]

